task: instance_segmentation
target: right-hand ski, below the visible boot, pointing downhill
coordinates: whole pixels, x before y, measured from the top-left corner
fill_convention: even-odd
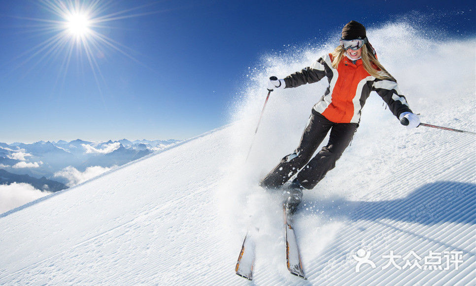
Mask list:
[[[284,212],[284,238],[286,239],[286,265],[291,274],[307,280],[301,262],[301,254],[299,253],[298,242],[293,228],[293,217],[286,209],[283,203]]]

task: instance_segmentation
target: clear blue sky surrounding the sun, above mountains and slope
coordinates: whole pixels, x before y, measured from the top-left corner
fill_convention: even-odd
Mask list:
[[[68,60],[68,42],[41,46],[60,32],[48,21],[65,21],[48,2],[0,1],[0,142],[190,138],[226,124],[248,67],[284,45],[350,20],[421,16],[452,37],[474,36],[476,20],[474,1],[56,1],[97,2],[110,20],[90,27],[109,43],[91,45],[90,63],[83,47]]]

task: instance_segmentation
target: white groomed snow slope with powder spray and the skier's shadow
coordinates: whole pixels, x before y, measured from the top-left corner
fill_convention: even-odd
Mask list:
[[[368,34],[423,122],[475,131],[475,39],[425,43],[405,24]],[[388,35],[402,45],[385,45]],[[273,93],[244,157],[264,79],[299,70],[331,47],[268,57],[249,75],[235,123],[0,215],[0,285],[474,285],[475,136],[407,131],[376,94],[351,146],[305,193],[296,217],[308,280],[288,273],[279,196],[256,185],[295,148],[325,83]],[[248,282],[234,266],[251,219],[260,231]],[[376,268],[356,272],[360,249]],[[429,251],[457,251],[463,262],[457,270],[454,263],[399,270],[385,267],[391,251],[413,251],[421,265]]]

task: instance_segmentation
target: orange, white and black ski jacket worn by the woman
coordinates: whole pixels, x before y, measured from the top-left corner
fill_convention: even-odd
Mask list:
[[[397,82],[371,76],[365,70],[362,59],[352,63],[344,56],[335,69],[332,67],[332,55],[328,54],[311,66],[284,78],[285,88],[315,83],[324,77],[327,77],[329,86],[314,105],[314,110],[332,122],[359,123],[362,107],[371,91],[376,91],[382,97],[397,118],[403,112],[411,112]]]

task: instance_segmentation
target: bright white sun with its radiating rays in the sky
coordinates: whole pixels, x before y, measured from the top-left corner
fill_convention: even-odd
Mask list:
[[[102,86],[107,86],[101,72],[101,60],[112,53],[144,65],[133,57],[130,48],[106,36],[102,31],[116,29],[110,22],[127,18],[140,17],[161,11],[147,11],[137,13],[137,10],[146,9],[154,3],[145,4],[120,11],[114,11],[111,0],[39,0],[49,17],[14,17],[25,20],[29,33],[42,38],[29,50],[19,55],[19,67],[29,64],[27,73],[30,73],[40,64],[49,65],[59,62],[57,86],[63,86],[73,60],[79,65],[89,66],[96,85],[102,94]],[[121,23],[122,24],[122,23]],[[119,25],[121,27],[121,25]],[[129,53],[128,53],[129,52]],[[58,65],[58,64],[57,64]],[[80,68],[84,73],[85,70]]]

